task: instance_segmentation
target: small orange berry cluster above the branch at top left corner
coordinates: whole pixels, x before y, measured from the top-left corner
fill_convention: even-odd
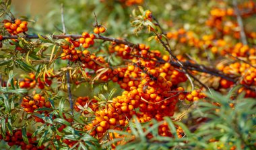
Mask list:
[[[5,23],[5,29],[7,29],[7,31],[11,35],[17,35],[18,33],[28,31],[27,21],[21,21],[20,19],[15,19],[15,21],[4,20],[4,23]]]

